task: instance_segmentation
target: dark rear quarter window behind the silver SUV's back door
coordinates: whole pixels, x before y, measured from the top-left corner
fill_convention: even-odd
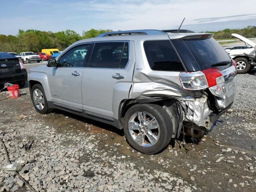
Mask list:
[[[184,71],[184,67],[169,40],[145,41],[144,50],[152,70]]]

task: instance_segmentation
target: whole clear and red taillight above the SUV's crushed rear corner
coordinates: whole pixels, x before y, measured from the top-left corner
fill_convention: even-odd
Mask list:
[[[210,68],[197,72],[181,72],[180,82],[186,90],[201,90],[225,82],[220,70]]]

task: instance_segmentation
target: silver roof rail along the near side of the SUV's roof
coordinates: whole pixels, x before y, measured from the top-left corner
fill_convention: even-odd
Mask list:
[[[110,37],[121,35],[162,35],[166,34],[164,31],[146,29],[146,30],[130,30],[130,31],[115,31],[99,34],[97,37]]]

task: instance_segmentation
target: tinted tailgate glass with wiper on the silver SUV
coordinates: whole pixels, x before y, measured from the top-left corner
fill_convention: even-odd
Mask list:
[[[224,70],[232,64],[228,53],[214,38],[175,39],[171,41],[188,71],[208,68]],[[225,61],[230,61],[230,63],[216,66]]]

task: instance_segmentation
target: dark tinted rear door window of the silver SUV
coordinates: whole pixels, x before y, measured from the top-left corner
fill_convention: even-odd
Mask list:
[[[96,43],[92,51],[90,67],[125,68],[127,62],[127,42]]]

